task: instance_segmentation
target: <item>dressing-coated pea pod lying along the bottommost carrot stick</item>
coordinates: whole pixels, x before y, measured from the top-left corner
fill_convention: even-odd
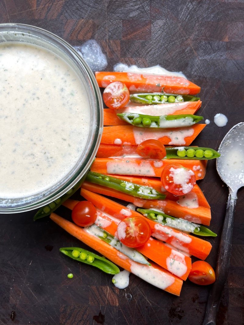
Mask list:
[[[126,245],[122,244],[120,240],[118,240],[116,237],[114,237],[107,231],[103,230],[101,227],[92,225],[90,227],[86,227],[86,230],[92,235],[97,236],[101,240],[106,241],[106,243],[108,243],[110,246],[116,248],[116,250],[118,250],[120,253],[125,254],[133,261],[141,264],[151,265],[141,253],[137,252],[133,248],[127,247]]]

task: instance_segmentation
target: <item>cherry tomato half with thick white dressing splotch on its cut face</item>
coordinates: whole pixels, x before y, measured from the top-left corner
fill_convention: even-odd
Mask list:
[[[163,187],[174,195],[189,193],[196,184],[196,176],[191,169],[173,163],[164,167],[161,174]]]

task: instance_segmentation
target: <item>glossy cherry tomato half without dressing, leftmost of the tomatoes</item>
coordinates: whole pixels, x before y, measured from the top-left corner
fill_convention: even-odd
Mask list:
[[[71,217],[76,225],[88,227],[94,224],[97,218],[97,210],[91,202],[80,201],[72,210]]]

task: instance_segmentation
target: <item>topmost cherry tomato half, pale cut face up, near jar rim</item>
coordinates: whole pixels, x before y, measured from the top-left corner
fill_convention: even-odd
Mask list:
[[[129,102],[129,90],[121,81],[112,82],[103,91],[103,100],[107,107],[118,110]]]

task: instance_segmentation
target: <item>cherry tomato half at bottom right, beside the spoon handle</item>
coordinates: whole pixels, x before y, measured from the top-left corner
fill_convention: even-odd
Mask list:
[[[197,261],[192,263],[188,279],[196,284],[208,285],[215,281],[215,272],[209,263]]]

